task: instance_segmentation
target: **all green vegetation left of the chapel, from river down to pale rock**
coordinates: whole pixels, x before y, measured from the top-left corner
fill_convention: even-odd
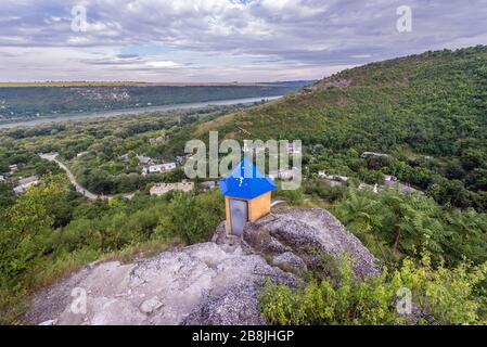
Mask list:
[[[243,105],[146,114],[116,119],[90,119],[16,128],[0,132],[0,323],[22,314],[31,291],[97,259],[163,250],[174,244],[208,240],[225,219],[217,190],[192,194],[149,195],[153,182],[180,181],[181,169],[166,175],[140,175],[129,153],[172,159],[183,154],[185,127],[200,119],[240,111]],[[150,138],[172,137],[171,147]],[[180,142],[178,142],[180,141]],[[78,180],[100,193],[136,192],[132,200],[113,196],[88,202],[74,191],[56,164],[38,153],[59,152]],[[82,156],[77,154],[84,153]],[[18,170],[9,172],[10,165]],[[21,177],[36,175],[41,184],[23,195],[12,188]],[[191,218],[188,218],[191,216]]]

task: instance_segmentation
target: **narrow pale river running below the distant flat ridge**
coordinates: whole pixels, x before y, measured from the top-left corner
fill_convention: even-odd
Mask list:
[[[60,123],[66,120],[80,120],[87,118],[106,118],[106,117],[117,117],[117,116],[126,116],[126,115],[140,115],[144,113],[152,112],[167,112],[175,110],[191,110],[191,108],[202,108],[209,105],[234,105],[234,104],[247,104],[254,103],[261,100],[271,101],[282,98],[280,97],[264,97],[264,98],[245,98],[245,99],[229,99],[229,100],[216,100],[216,101],[205,101],[205,102],[194,102],[194,103],[185,103],[185,104],[172,104],[172,105],[162,105],[162,106],[148,106],[148,107],[138,107],[138,108],[125,108],[125,110],[111,110],[111,111],[102,111],[102,112],[92,112],[92,113],[79,113],[72,115],[59,115],[55,117],[40,117],[31,120],[20,120],[13,123],[0,124],[0,129],[9,129],[16,127],[31,127],[41,124],[48,123]]]

